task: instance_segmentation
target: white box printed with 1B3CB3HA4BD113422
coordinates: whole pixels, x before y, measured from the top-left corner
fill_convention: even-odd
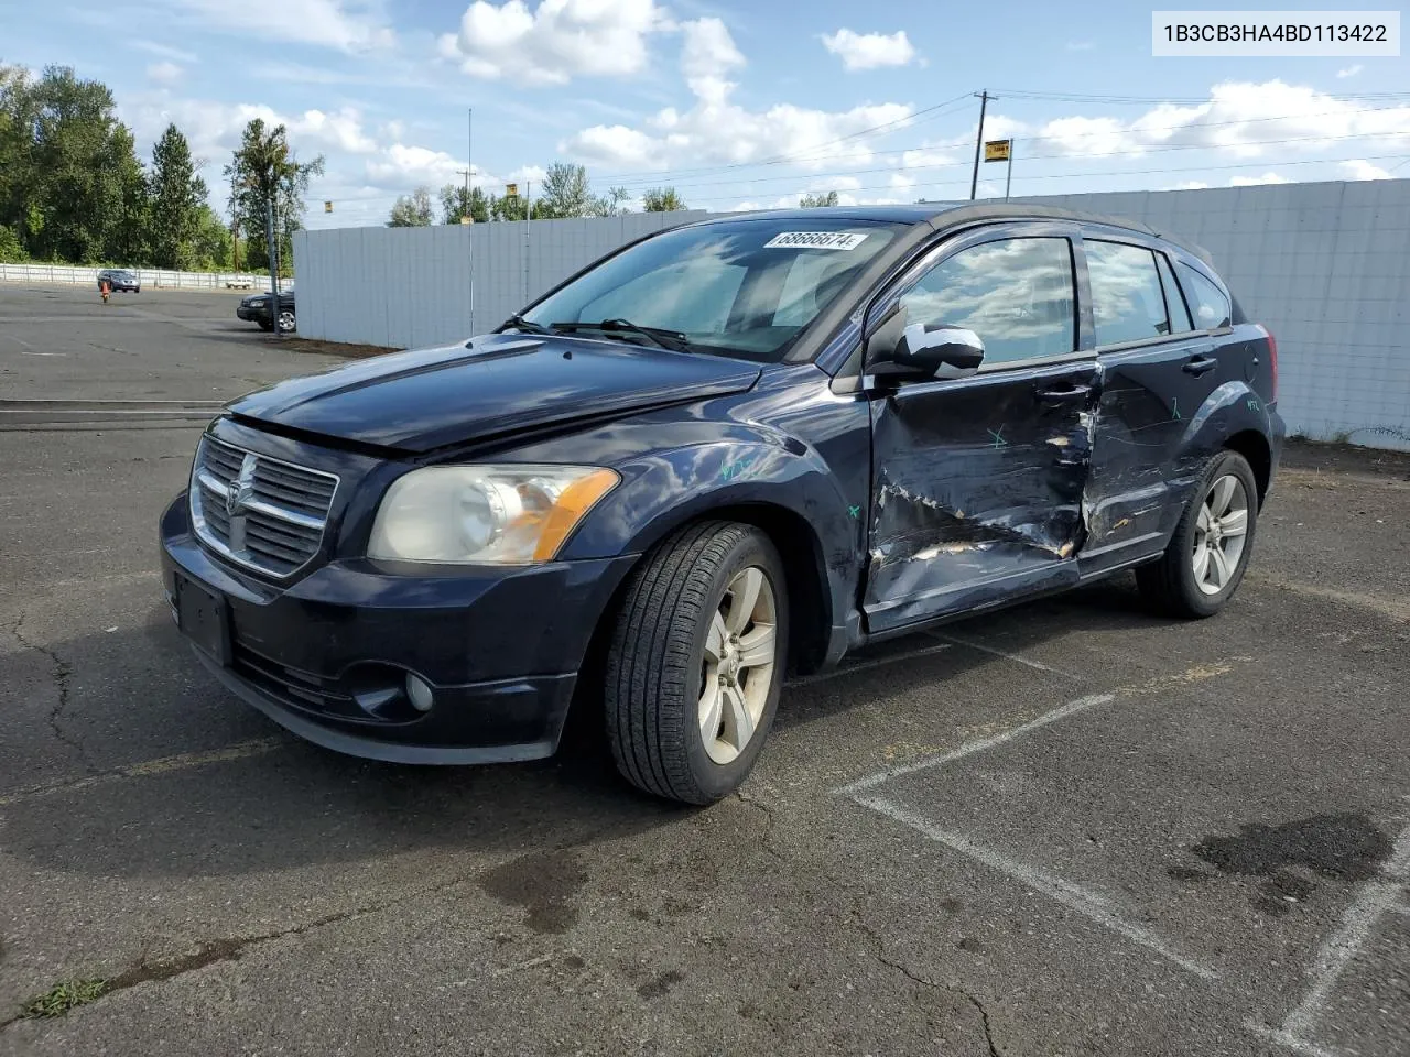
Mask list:
[[[1400,55],[1400,11],[1152,11],[1153,56]]]

